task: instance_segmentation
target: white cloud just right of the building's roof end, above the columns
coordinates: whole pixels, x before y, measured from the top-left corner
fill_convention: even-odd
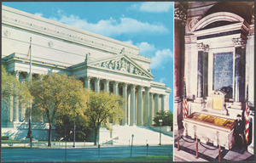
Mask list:
[[[157,50],[150,65],[151,69],[163,69],[166,62],[170,61],[173,54],[169,48]]]

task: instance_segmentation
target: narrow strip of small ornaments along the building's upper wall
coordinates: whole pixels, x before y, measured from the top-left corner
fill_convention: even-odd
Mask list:
[[[28,28],[33,28],[34,30],[38,30],[38,31],[41,31],[41,32],[49,32],[49,33],[57,35],[57,36],[67,37],[67,39],[73,39],[75,41],[88,43],[88,44],[96,46],[98,48],[102,48],[102,47],[108,48],[108,49],[116,51],[117,53],[122,50],[122,48],[116,48],[114,46],[110,46],[110,45],[104,44],[102,42],[91,41],[91,40],[89,40],[85,37],[75,36],[71,33],[53,30],[53,29],[51,29],[49,27],[46,27],[46,26],[43,26],[43,25],[35,25],[32,22],[17,20],[17,19],[14,19],[14,18],[11,18],[11,17],[7,16],[6,14],[2,15],[2,20],[3,20],[3,22],[7,21],[7,22],[10,22],[10,23],[14,23],[15,25],[20,25],[20,26],[24,26],[24,27],[28,27]],[[129,52],[129,53],[137,55],[137,53],[132,53],[132,52]]]

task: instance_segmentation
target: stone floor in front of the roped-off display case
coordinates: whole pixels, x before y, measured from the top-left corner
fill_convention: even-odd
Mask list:
[[[182,132],[182,131],[181,131]],[[211,143],[198,143],[199,158],[196,159],[195,139],[182,137],[179,139],[179,149],[177,150],[177,137],[174,141],[174,161],[218,161],[218,148]],[[233,147],[230,150],[221,148],[221,161],[253,161],[254,155],[244,149]]]

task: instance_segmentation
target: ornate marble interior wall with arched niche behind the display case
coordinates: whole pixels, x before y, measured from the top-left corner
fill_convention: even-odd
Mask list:
[[[188,115],[233,120],[248,85],[254,124],[254,2],[176,2],[174,22],[174,129],[183,128],[184,81]]]

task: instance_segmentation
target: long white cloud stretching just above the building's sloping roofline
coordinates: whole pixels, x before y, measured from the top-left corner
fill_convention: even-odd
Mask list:
[[[132,18],[121,17],[119,20],[109,18],[108,20],[99,20],[96,24],[87,20],[80,19],[79,16],[65,15],[58,11],[59,17],[49,19],[59,21],[67,25],[73,25],[86,31],[95,32],[106,37],[115,37],[121,34],[160,34],[168,32],[166,26],[161,24],[149,24],[148,22],[138,21]]]

